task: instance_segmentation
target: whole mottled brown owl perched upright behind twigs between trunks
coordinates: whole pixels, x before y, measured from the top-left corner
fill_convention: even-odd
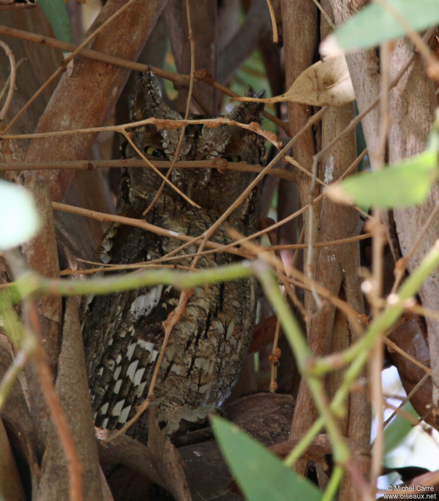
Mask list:
[[[163,100],[157,78],[138,74],[136,94],[130,99],[130,118],[181,119]],[[259,122],[262,105],[240,103],[227,117],[242,123]],[[149,124],[132,130],[137,148],[151,159],[175,156],[181,129],[158,129]],[[136,156],[126,143],[123,156]],[[179,160],[224,157],[250,164],[261,163],[263,140],[257,134],[231,125],[208,128],[188,125]],[[147,168],[127,168],[118,196],[120,211],[157,226],[190,236],[204,233],[236,200],[254,178],[250,172],[217,169],[173,169],[170,179],[200,208],[189,204],[166,185],[153,208],[162,179]],[[259,218],[257,187],[230,214],[227,223],[248,235]],[[221,244],[231,241],[224,226],[211,236]],[[133,226],[114,223],[102,238],[95,260],[104,264],[132,264],[157,260],[173,252],[181,241]],[[191,266],[187,254],[177,265]],[[198,268],[212,268],[236,261],[236,256],[213,253],[202,256]],[[163,322],[177,306],[180,291],[157,285],[135,291],[90,296],[82,301],[81,324],[89,388],[96,426],[120,428],[148,395],[156,360],[164,338]],[[230,394],[246,355],[255,320],[253,279],[196,287],[184,314],[174,327],[159,370],[154,393],[163,431],[172,436],[185,424],[204,421],[206,411],[220,406]],[[148,412],[128,433],[142,442],[148,439]]]

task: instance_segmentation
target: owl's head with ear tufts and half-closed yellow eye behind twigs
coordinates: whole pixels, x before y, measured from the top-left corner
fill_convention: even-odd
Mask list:
[[[263,91],[255,95],[261,97]],[[152,72],[139,73],[136,78],[136,93],[129,101],[130,118],[140,121],[150,117],[157,119],[181,120],[182,115],[172,110],[163,100],[158,79]],[[235,106],[226,118],[249,124],[260,123],[263,104],[241,102]],[[190,117],[209,118],[209,117]],[[177,150],[181,128],[157,128],[153,124],[132,129],[132,140],[136,147],[152,160],[173,160]],[[242,127],[221,125],[209,128],[205,124],[194,124],[186,127],[179,160],[211,160],[217,157],[229,161],[244,161],[249,164],[261,164],[264,154],[264,140],[258,134]],[[131,147],[126,147],[125,156],[137,156]],[[142,171],[142,172],[141,172]],[[229,179],[233,175],[233,179]],[[141,191],[149,191],[160,185],[161,180],[149,169],[133,169],[130,173],[131,183]],[[222,195],[225,204],[236,199],[242,189],[251,181],[253,174],[228,171],[220,174],[216,169],[179,169],[178,165],[171,173],[171,180],[190,198],[200,205],[206,205],[205,199],[212,195]],[[217,179],[218,178],[218,179]],[[222,191],[218,183],[233,184],[227,193]],[[213,191],[213,192],[212,192]],[[228,205],[227,205],[228,206]]]

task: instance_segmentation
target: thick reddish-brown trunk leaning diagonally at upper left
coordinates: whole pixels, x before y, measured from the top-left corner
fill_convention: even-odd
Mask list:
[[[91,33],[125,5],[127,0],[109,0],[91,26]],[[96,36],[91,49],[124,59],[135,59],[148,39],[166,0],[138,0]],[[75,130],[103,124],[117,101],[129,70],[77,57],[73,72],[65,72],[40,118],[36,132]],[[26,155],[27,161],[72,160],[85,158],[96,133],[35,138]],[[27,175],[27,174],[25,174]],[[49,184],[51,199],[60,201],[74,171],[39,173]]]

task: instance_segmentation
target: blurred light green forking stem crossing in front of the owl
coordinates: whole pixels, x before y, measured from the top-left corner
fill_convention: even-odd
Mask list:
[[[337,486],[342,478],[344,466],[350,457],[350,450],[338,429],[336,416],[340,412],[340,408],[343,406],[353,382],[363,369],[369,350],[373,347],[375,340],[394,324],[403,311],[403,302],[412,298],[417,293],[424,280],[438,265],[439,240],[434,243],[419,267],[400,287],[397,295],[391,296],[387,307],[371,323],[363,338],[347,350],[318,359],[312,357],[300,326],[279,290],[273,270],[260,259],[252,262],[242,261],[218,268],[195,270],[193,272],[168,269],[146,270],[121,274],[115,277],[96,277],[86,281],[48,279],[33,271],[27,271],[17,279],[11,288],[1,291],[0,308],[2,311],[0,313],[5,319],[7,317],[7,310],[10,308],[8,305],[12,304],[11,301],[15,303],[19,299],[27,297],[35,298],[43,295],[105,295],[158,284],[171,285],[178,289],[190,289],[211,283],[244,279],[250,276],[257,277],[268,300],[276,311],[285,336],[296,356],[299,370],[305,377],[320,412],[319,419],[312,425],[295,449],[291,451],[285,459],[285,464],[288,466],[294,464],[317,433],[325,427],[331,439],[334,460],[337,465],[328,484],[327,491],[323,495],[323,499],[329,500],[336,493]],[[5,322],[5,327],[7,327],[7,323],[9,322]],[[332,402],[328,403],[324,391],[323,376],[327,372],[336,370],[349,363],[350,365],[344,373],[342,384]]]

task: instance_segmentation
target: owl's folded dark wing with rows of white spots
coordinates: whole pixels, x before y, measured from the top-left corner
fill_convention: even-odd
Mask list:
[[[162,285],[97,296],[84,305],[83,338],[95,424],[123,425],[148,392],[177,292]]]

